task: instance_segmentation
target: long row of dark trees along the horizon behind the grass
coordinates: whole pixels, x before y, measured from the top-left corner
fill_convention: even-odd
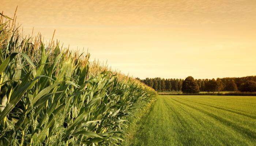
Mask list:
[[[139,78],[137,78],[140,80]],[[241,92],[256,92],[256,76],[246,77],[225,77],[212,79],[194,79],[189,76],[186,78],[187,86],[198,87],[198,92],[219,92],[219,91],[241,91]],[[140,80],[155,91],[182,91],[182,86],[185,86],[184,79],[177,78],[146,78]],[[193,85],[194,84],[194,85]],[[188,92],[189,93],[189,92]]]

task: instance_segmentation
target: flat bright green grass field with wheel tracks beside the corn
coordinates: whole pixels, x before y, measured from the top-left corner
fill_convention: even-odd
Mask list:
[[[162,95],[131,146],[256,145],[256,97]]]

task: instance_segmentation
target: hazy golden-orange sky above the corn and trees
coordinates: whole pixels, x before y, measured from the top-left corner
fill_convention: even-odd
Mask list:
[[[1,0],[31,34],[133,77],[256,75],[256,0]]]

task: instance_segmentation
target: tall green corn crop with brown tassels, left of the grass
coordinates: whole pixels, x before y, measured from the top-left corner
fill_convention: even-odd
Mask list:
[[[119,145],[124,117],[155,91],[89,53],[23,36],[15,20],[1,13],[0,145]]]

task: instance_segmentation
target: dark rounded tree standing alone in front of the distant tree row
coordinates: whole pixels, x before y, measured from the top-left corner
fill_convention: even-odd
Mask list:
[[[199,93],[199,87],[196,84],[193,77],[188,76],[183,82],[182,82],[182,88],[181,91],[183,93]]]

